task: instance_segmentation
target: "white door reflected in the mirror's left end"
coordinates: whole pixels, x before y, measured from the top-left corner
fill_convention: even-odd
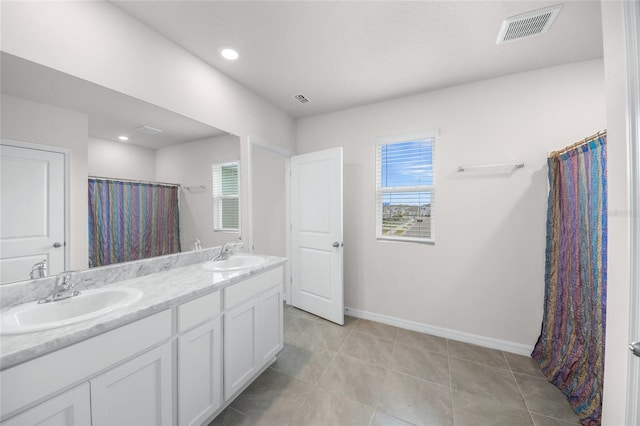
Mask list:
[[[0,283],[64,271],[64,154],[3,143],[0,175]]]

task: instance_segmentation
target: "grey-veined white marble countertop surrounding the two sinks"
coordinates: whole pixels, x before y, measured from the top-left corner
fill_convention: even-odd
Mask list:
[[[204,270],[202,263],[196,263],[106,284],[104,288],[137,288],[143,295],[132,305],[92,320],[34,333],[1,335],[0,370],[228,287],[287,262],[282,257],[262,257],[266,260],[262,265],[240,271],[211,272]]]

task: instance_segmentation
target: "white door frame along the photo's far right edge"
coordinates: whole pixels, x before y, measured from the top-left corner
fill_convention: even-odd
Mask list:
[[[640,338],[640,6],[623,2],[624,38],[627,54],[627,137],[629,138],[629,201],[630,210],[630,294],[629,342]],[[635,212],[635,214],[633,214]],[[627,424],[640,424],[640,361],[629,353],[627,387]]]

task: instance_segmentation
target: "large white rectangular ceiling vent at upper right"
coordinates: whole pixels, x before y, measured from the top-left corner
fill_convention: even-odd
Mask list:
[[[502,23],[502,28],[500,28],[496,44],[533,37],[547,32],[558,13],[560,13],[560,9],[562,9],[562,4],[557,4],[505,19]]]

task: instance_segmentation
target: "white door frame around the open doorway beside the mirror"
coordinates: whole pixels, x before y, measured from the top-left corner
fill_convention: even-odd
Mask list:
[[[296,155],[295,152],[282,148],[278,145],[266,142],[256,136],[248,137],[248,149],[247,149],[247,210],[248,210],[248,226],[247,229],[247,249],[250,253],[253,253],[253,150],[255,148],[264,149],[273,154],[279,155],[285,160],[285,255],[287,259],[291,259],[291,199],[289,195],[289,189],[291,185],[291,169],[290,158]],[[291,261],[287,262],[284,267],[285,271],[285,294],[284,301],[287,304],[291,303]]]

